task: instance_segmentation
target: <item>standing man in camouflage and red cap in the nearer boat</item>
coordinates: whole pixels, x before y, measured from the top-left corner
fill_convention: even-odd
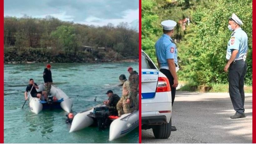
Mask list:
[[[139,105],[137,103],[137,94],[138,94],[138,86],[139,86],[139,75],[136,71],[133,71],[132,67],[128,68],[128,72],[130,73],[129,82],[130,82],[130,87],[132,91],[134,110],[138,110]]]

